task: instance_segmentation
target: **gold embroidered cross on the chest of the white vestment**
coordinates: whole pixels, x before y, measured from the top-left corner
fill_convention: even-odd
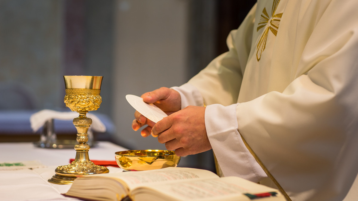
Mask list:
[[[279,30],[279,25],[282,17],[282,13],[275,14],[277,6],[279,5],[280,0],[274,0],[272,4],[272,10],[271,10],[271,18],[269,17],[269,14],[267,14],[266,7],[263,8],[260,21],[258,22],[257,31],[260,30],[262,27],[265,27],[266,25],[269,25],[265,31],[263,31],[262,36],[260,38],[260,41],[258,41],[257,44],[257,52],[256,52],[256,58],[257,61],[261,59],[261,54],[263,50],[265,50],[266,47],[266,40],[267,35],[269,34],[269,30],[276,36],[277,31]],[[269,23],[270,22],[270,23]]]

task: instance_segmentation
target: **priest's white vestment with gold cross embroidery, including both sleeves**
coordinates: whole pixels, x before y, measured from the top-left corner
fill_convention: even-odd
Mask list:
[[[229,51],[174,87],[182,107],[207,105],[224,176],[269,173],[292,200],[344,199],[358,172],[357,8],[259,0],[229,34]]]

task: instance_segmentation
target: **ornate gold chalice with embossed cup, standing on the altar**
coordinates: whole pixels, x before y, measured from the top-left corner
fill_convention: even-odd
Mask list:
[[[88,111],[97,110],[102,102],[100,96],[102,76],[63,76],[66,87],[64,102],[79,116],[73,119],[77,129],[76,157],[69,165],[58,166],[55,175],[48,181],[53,184],[72,184],[77,176],[108,173],[106,167],[93,164],[89,160],[87,131],[92,119],[86,117]]]

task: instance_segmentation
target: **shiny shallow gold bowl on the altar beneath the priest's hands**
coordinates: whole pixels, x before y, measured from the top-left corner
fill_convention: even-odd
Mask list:
[[[180,161],[180,156],[168,150],[127,150],[115,154],[118,166],[126,171],[176,167]]]

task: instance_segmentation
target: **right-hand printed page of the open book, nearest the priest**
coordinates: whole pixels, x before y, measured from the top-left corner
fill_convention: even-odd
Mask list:
[[[193,181],[178,181],[166,185],[155,185],[138,188],[131,192],[132,198],[138,200],[147,194],[161,197],[171,197],[172,200],[249,200],[244,193],[258,194],[277,192],[269,188],[240,177],[221,177],[216,179],[202,179]],[[274,200],[285,200],[280,194]],[[140,199],[139,199],[140,200]]]

